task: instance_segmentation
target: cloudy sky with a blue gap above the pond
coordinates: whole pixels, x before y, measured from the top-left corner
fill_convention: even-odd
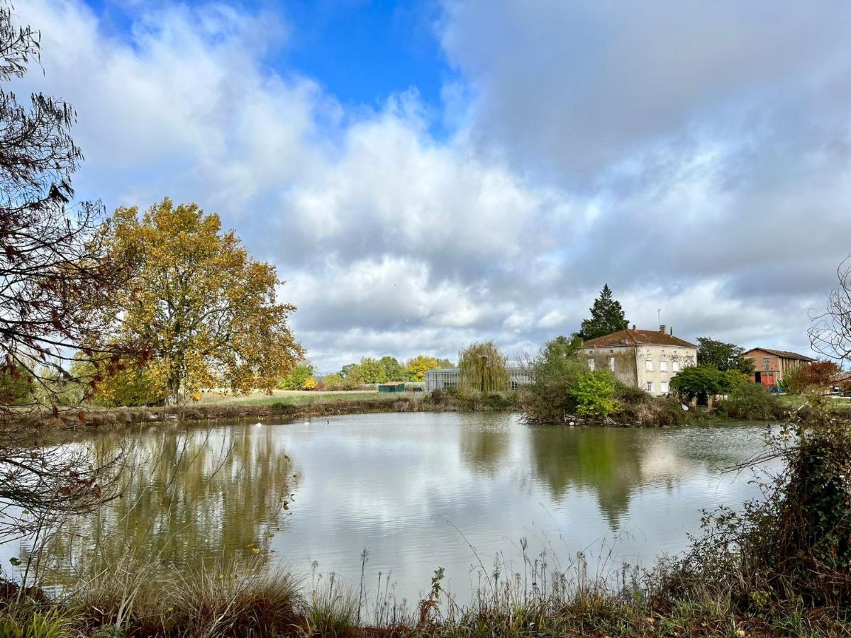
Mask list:
[[[603,283],[808,352],[851,252],[851,3],[26,0],[80,197],[218,212],[322,371],[510,356]]]

